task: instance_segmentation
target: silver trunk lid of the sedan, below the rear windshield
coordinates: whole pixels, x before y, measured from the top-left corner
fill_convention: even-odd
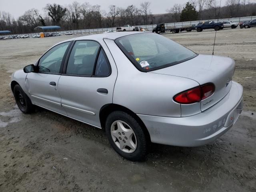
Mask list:
[[[215,85],[214,94],[200,103],[201,111],[204,111],[228,94],[232,85],[234,69],[235,63],[231,58],[200,54],[186,62],[155,70],[151,73],[185,77],[195,80],[200,85],[213,83]]]

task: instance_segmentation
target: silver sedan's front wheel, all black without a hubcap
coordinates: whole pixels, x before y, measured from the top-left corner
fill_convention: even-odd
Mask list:
[[[25,114],[35,111],[35,106],[32,104],[30,98],[22,90],[20,85],[15,85],[13,89],[14,98],[18,108]]]

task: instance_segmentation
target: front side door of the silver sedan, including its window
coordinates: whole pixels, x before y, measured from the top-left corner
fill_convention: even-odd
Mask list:
[[[69,44],[65,42],[48,50],[39,59],[37,72],[28,73],[25,81],[34,104],[65,115],[60,102],[58,80]]]

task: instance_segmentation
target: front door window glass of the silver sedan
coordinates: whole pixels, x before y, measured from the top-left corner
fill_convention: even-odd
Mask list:
[[[63,56],[70,42],[59,44],[44,54],[38,63],[38,72],[60,73]]]

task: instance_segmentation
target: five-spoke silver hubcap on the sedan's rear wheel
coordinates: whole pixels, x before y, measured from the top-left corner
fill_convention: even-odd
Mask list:
[[[126,153],[132,153],[137,148],[137,139],[132,128],[121,120],[111,125],[111,136],[116,146]]]

